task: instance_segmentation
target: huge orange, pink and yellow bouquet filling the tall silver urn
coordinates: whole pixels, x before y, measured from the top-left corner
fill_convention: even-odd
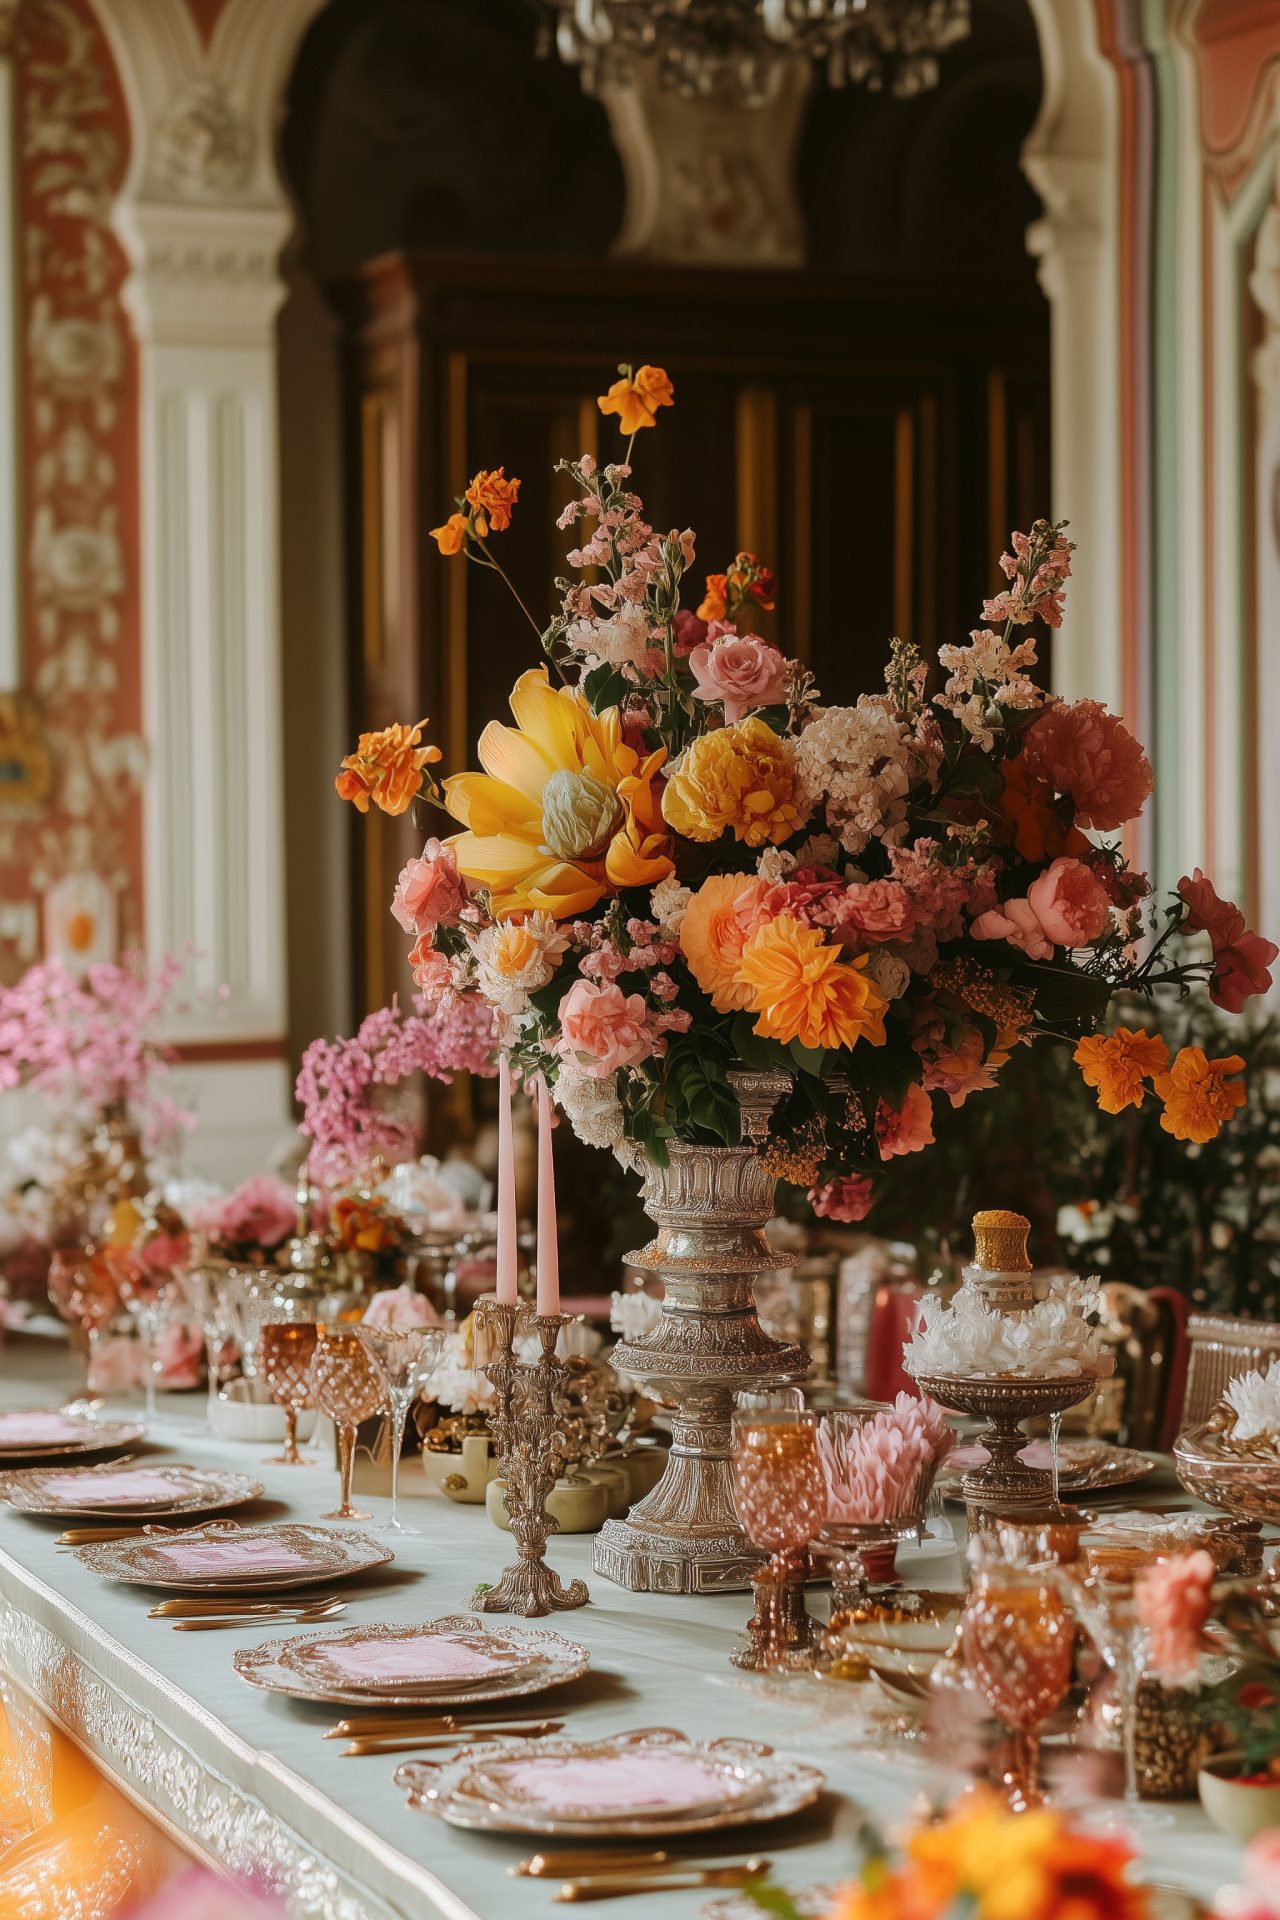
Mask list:
[[[486,726],[480,772],[441,781],[422,720],[361,735],[338,774],[361,810],[422,797],[461,828],[395,887],[424,1000],[493,1008],[585,1140],[656,1162],[674,1139],[737,1140],[727,1068],[787,1069],[768,1160],[835,1219],[933,1142],[936,1102],[963,1106],[1042,1037],[1075,1048],[1107,1112],[1155,1100],[1176,1139],[1209,1139],[1244,1098],[1238,1056],[1107,1031],[1107,1002],[1205,979],[1238,1010],[1276,947],[1199,870],[1159,908],[1111,839],[1151,793],[1148,756],[1098,701],[1034,678],[1065,526],[1011,538],[936,691],[892,641],[881,693],[825,707],[756,632],[770,568],[739,553],[689,595],[693,532],[645,518],[631,449],[672,403],[662,369],[620,369],[601,411],[622,459],[560,463],[570,572],[545,628],[516,595],[547,664],[516,682],[514,726]],[[478,472],[434,528],[441,553],[507,578],[518,488]],[[1209,952],[1176,958],[1176,933]]]

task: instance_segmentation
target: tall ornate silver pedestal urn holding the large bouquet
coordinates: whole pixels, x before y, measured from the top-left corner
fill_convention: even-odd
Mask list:
[[[773,1175],[760,1148],[770,1114],[791,1085],[785,1073],[729,1073],[743,1112],[741,1146],[672,1142],[670,1165],[645,1164],[645,1210],[656,1236],[629,1254],[660,1275],[662,1321],[614,1350],[631,1375],[672,1407],[666,1473],[626,1521],[606,1521],[595,1571],[631,1592],[716,1594],[750,1586],[758,1553],[733,1505],[729,1459],[733,1396],[808,1373],[800,1346],[781,1346],[760,1327],[754,1283],[794,1265],[770,1246]]]

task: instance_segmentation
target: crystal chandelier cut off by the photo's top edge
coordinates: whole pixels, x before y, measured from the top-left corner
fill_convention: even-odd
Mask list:
[[[760,106],[789,60],[821,65],[827,84],[889,88],[938,83],[938,56],[969,33],[969,0],[533,0],[541,52],[601,83],[629,81],[652,60],[687,100]]]

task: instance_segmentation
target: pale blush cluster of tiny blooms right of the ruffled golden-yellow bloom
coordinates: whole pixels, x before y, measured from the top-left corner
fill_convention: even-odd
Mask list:
[[[794,772],[800,814],[812,818],[823,808],[846,852],[862,852],[873,837],[890,847],[902,839],[919,762],[881,705],[819,712],[796,741]]]

